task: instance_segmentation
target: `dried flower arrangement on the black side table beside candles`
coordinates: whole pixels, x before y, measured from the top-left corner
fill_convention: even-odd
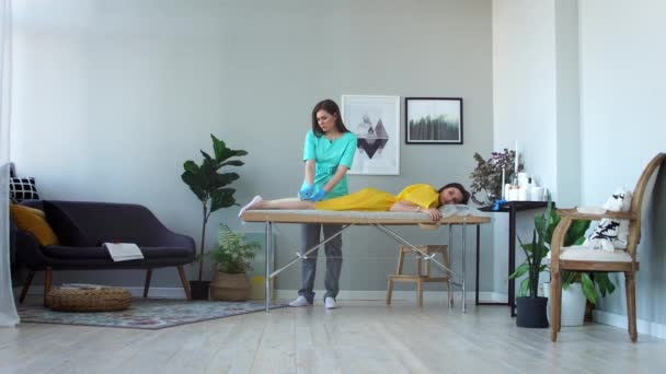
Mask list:
[[[491,157],[484,160],[479,153],[474,153],[476,167],[470,175],[472,178],[472,201],[478,204],[491,204],[502,197],[502,170],[505,171],[506,183],[510,183],[515,174],[516,151],[504,149],[504,152],[493,152]],[[518,165],[518,172],[523,165]],[[476,194],[484,191],[482,196]]]

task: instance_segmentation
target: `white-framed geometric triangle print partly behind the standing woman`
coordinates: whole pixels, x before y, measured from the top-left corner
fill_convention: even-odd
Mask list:
[[[400,96],[343,95],[342,118],[358,138],[349,174],[400,175]]]

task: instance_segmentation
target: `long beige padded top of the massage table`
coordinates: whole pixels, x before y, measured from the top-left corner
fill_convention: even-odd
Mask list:
[[[451,214],[439,222],[433,222],[424,212],[377,212],[377,211],[332,211],[332,210],[248,210],[243,212],[245,222],[275,223],[349,223],[349,224],[481,224],[491,222],[490,217],[474,214]]]

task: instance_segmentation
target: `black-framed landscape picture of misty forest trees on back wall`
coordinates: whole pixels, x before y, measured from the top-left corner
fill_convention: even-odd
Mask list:
[[[462,144],[462,98],[405,97],[406,144]]]

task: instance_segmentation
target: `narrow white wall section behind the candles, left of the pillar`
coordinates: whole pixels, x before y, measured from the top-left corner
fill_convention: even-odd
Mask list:
[[[558,74],[554,0],[493,1],[493,147],[519,142],[525,171],[558,200]],[[519,214],[517,234],[531,237],[532,217]],[[495,291],[506,293],[508,214],[495,214]],[[516,241],[517,265],[523,250]]]

